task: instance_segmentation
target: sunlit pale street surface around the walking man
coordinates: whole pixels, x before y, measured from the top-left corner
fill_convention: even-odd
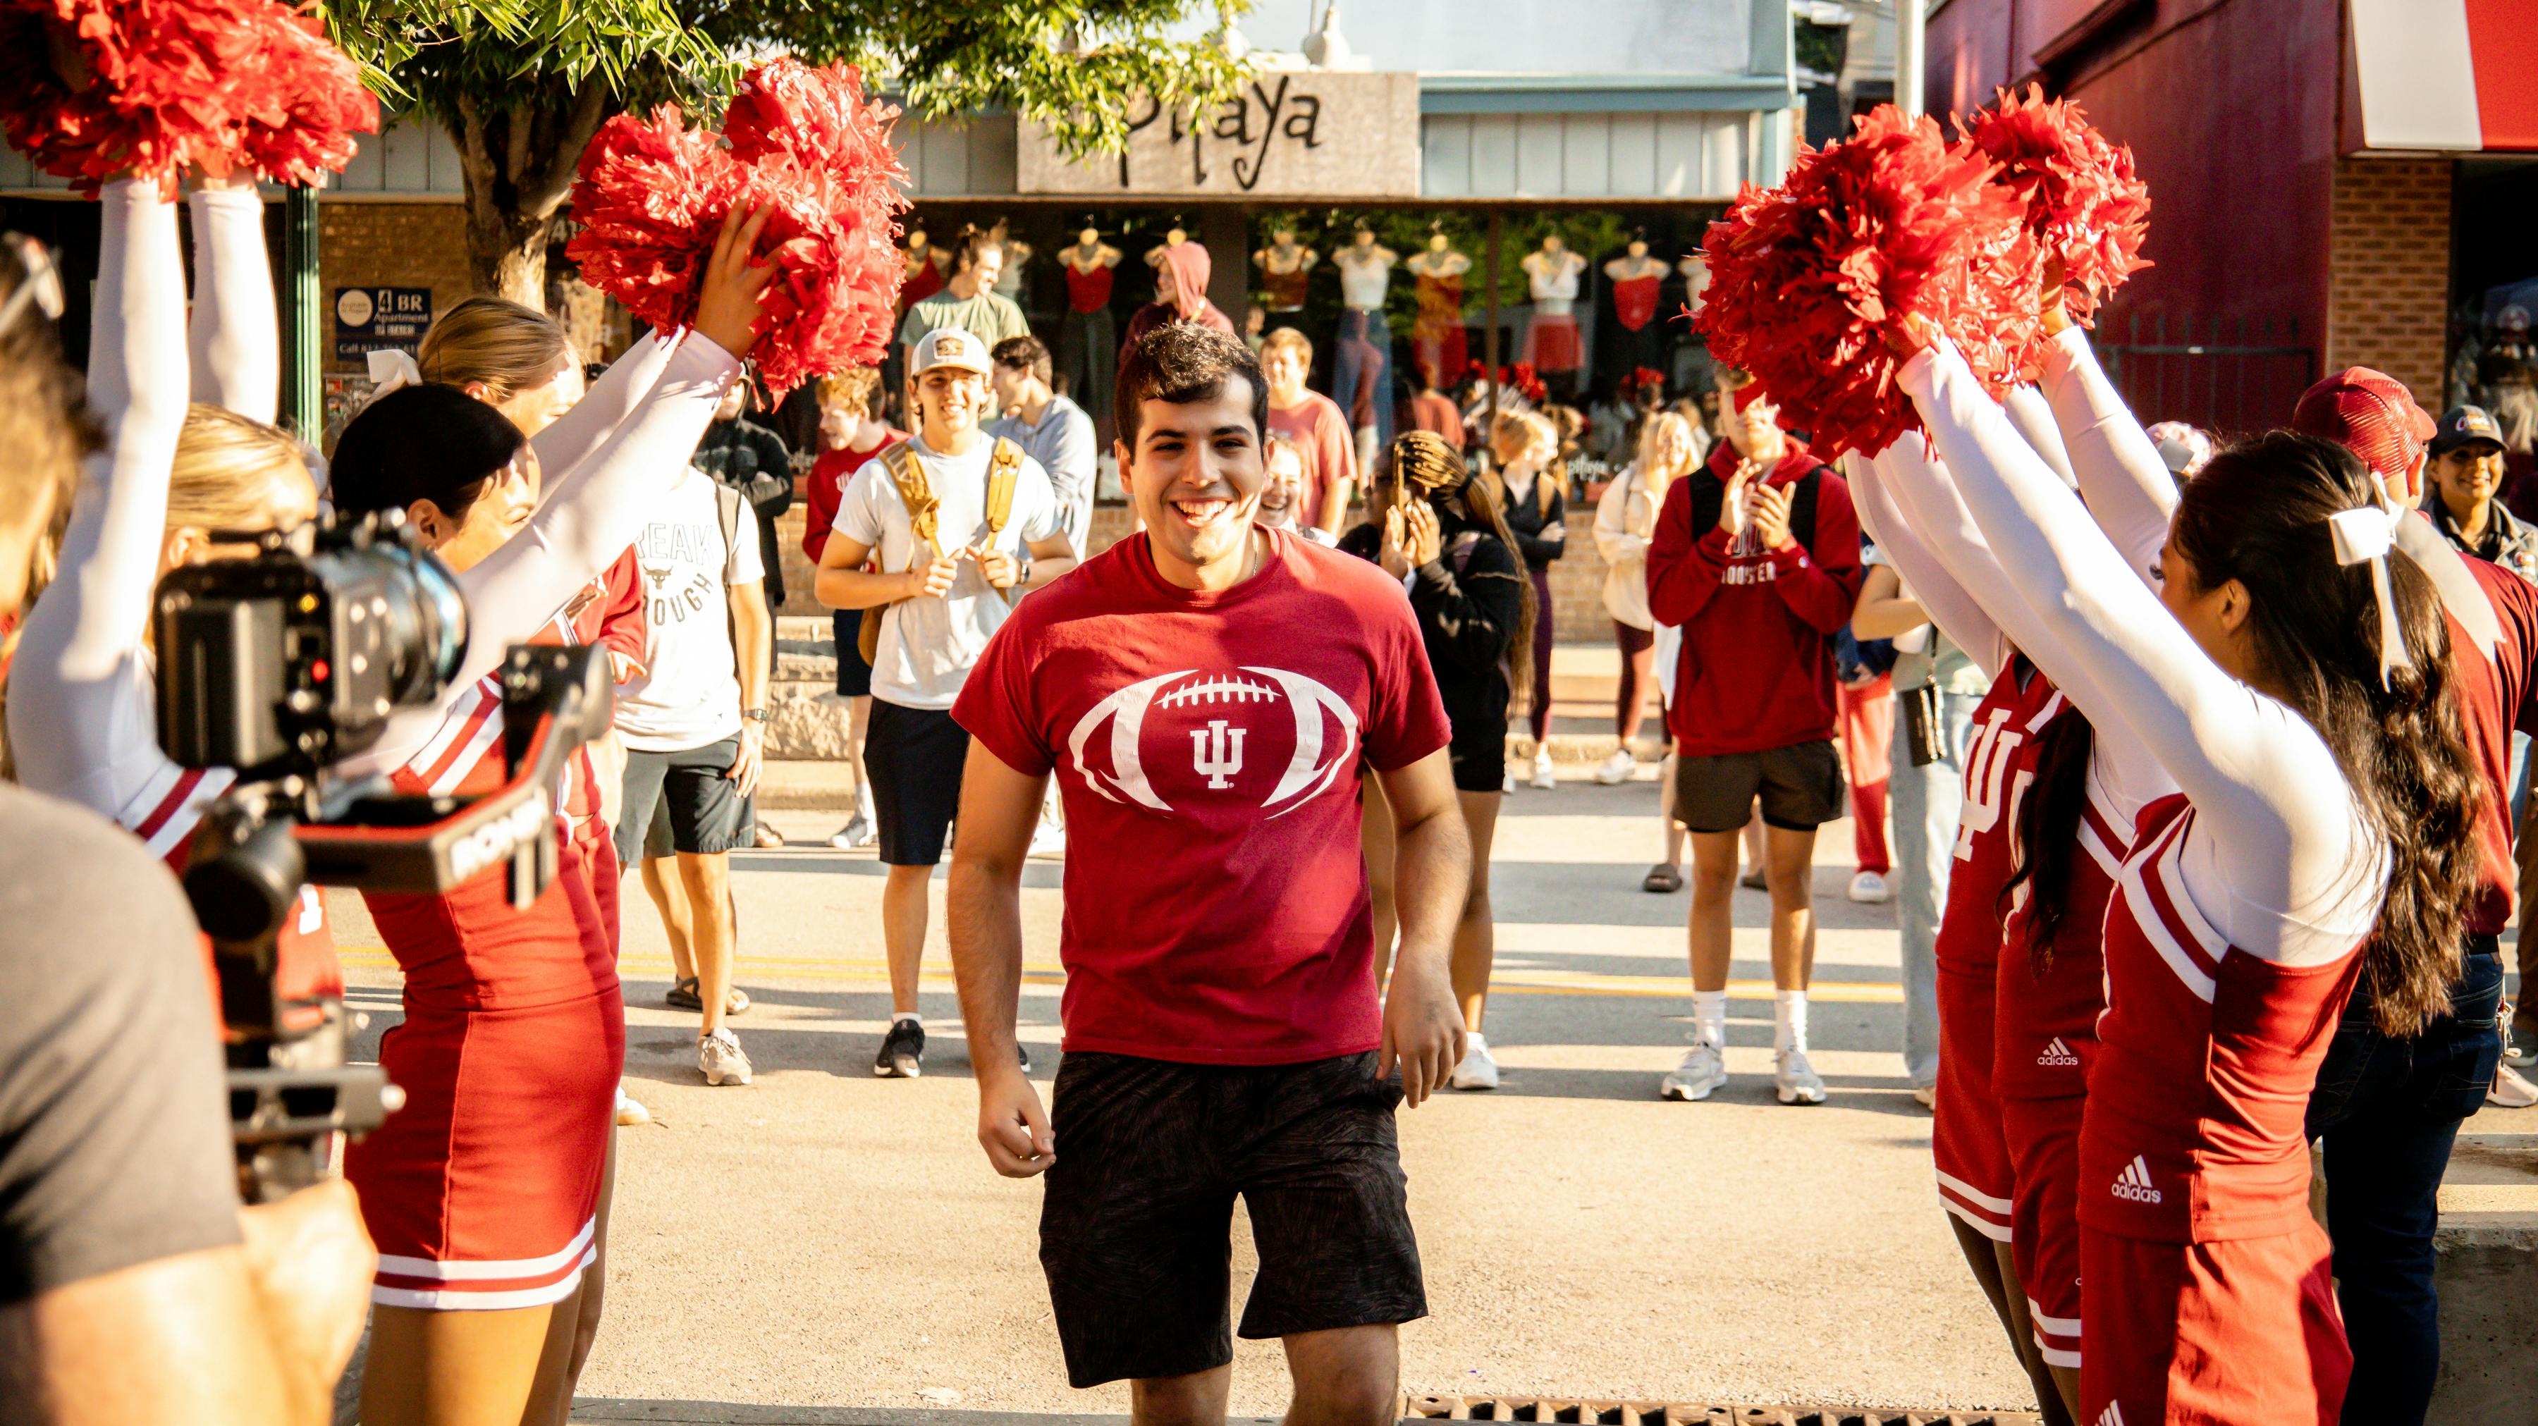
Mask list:
[[[1645,774],[1647,769],[1642,769]],[[1071,1390],[1036,1256],[1041,1190],[990,1172],[942,946],[926,954],[926,1078],[878,1081],[888,1020],[881,868],[827,812],[772,812],[810,845],[733,855],[749,1089],[706,1089],[693,1017],[627,883],[627,1086],[607,1325],[584,1375],[619,1403],[1117,1413]],[[1772,1101],[1766,901],[1736,896],[1733,1081],[1665,1104],[1688,1035],[1688,893],[1650,896],[1655,784],[1518,792],[1497,832],[1495,1094],[1401,1116],[1431,1314],[1404,1388],[1640,1401],[2033,1408],[1931,1190],[1929,1114],[1896,1053],[1891,906],[1843,898],[1848,822],[1817,847],[1815,1063],[1832,1099]],[[1084,855],[1084,853],[1079,853]],[[1058,863],[1033,863],[1023,1038],[1056,1068]],[[1206,888],[1183,888],[1206,896]],[[335,896],[363,1053],[396,969]],[[1236,1299],[1251,1251],[1233,1233]],[[1236,1304],[1239,1307],[1239,1304]],[[1284,1408],[1274,1342],[1236,1350],[1233,1411]],[[756,1416],[749,1416],[756,1418]]]

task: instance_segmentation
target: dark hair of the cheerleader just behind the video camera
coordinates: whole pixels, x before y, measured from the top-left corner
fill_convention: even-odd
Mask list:
[[[401,386],[363,406],[335,439],[327,497],[345,515],[429,500],[464,520],[525,444],[510,416],[457,386]]]

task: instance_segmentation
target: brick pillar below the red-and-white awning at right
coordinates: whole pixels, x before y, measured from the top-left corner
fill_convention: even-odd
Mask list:
[[[2327,370],[2370,365],[2439,411],[2449,312],[2447,157],[2335,160]]]

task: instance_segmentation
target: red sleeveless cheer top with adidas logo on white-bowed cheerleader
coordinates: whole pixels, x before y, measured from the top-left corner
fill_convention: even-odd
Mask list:
[[[2155,1243],[2310,1220],[2302,1116],[2360,957],[2233,949],[2185,898],[2183,794],[2142,809],[2107,903],[2107,1015],[2079,1134],[2079,1220]]]

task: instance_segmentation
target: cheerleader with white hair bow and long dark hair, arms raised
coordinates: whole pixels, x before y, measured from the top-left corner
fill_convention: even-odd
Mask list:
[[[2152,594],[1954,348],[1901,386],[2033,622],[2020,644],[2101,746],[2180,787],[2142,809],[2107,901],[2079,1416],[2335,1421],[2350,1352],[2302,1109],[2355,977],[2439,1005],[2477,873],[2439,599],[2386,558],[2401,515],[2327,442],[2216,457]]]

